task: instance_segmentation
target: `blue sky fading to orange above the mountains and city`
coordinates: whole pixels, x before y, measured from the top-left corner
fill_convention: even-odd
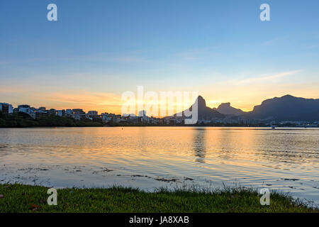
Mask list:
[[[48,4],[57,21],[47,21]],[[261,21],[261,4],[270,21]],[[1,0],[0,102],[121,113],[123,92],[250,111],[319,98],[318,0]]]

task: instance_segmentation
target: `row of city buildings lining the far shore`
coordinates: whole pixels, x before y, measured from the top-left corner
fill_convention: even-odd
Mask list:
[[[88,111],[87,113],[83,109],[46,109],[45,107],[40,107],[38,109],[31,107],[29,105],[19,105],[13,108],[11,104],[0,103],[0,111],[3,114],[13,114],[22,112],[24,114],[30,115],[34,119],[41,118],[43,116],[69,116],[75,120],[90,119],[91,121],[99,120],[103,123],[146,123],[146,124],[169,124],[169,125],[179,125],[184,124],[184,117],[179,116],[167,116],[164,118],[154,118],[146,115],[146,111],[140,111],[138,116],[135,114],[109,114],[103,113],[98,114],[98,111]],[[247,119],[240,116],[229,116],[226,118],[211,118],[211,119],[198,119],[199,124],[242,124],[242,125],[260,125],[274,126],[274,125],[291,125],[291,126],[318,126],[319,121],[308,122],[308,121],[265,121],[262,119]]]

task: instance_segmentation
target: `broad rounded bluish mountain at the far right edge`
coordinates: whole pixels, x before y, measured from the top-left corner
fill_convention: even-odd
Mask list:
[[[267,99],[253,111],[244,115],[247,118],[274,119],[279,121],[319,120],[319,99],[304,99],[291,95]]]

